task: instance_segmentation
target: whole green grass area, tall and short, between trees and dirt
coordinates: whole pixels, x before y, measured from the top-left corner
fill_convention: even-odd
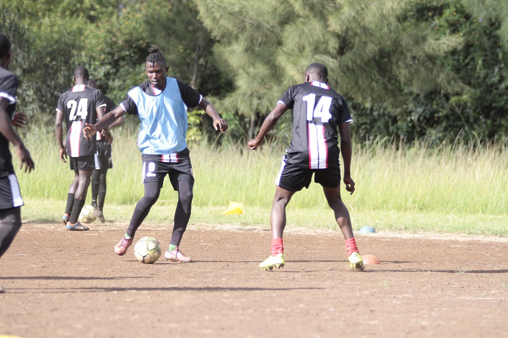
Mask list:
[[[128,223],[143,196],[137,135],[113,130],[113,169],[108,171],[105,216]],[[23,137],[36,163],[31,174],[17,171],[25,222],[59,222],[74,174],[58,157],[54,134],[33,130]],[[283,150],[265,144],[189,145],[196,179],[194,224],[266,226]],[[14,163],[19,162],[13,151]],[[508,149],[505,145],[443,144],[410,147],[374,142],[353,149],[356,191],[342,185],[354,229],[457,232],[508,235]],[[169,179],[145,222],[172,224],[177,193]],[[87,202],[91,199],[88,191]],[[223,215],[230,201],[242,202],[242,215]],[[337,229],[320,185],[295,194],[288,206],[288,226]]]

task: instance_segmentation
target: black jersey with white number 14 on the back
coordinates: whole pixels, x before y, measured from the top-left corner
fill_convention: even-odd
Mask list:
[[[352,122],[345,99],[327,84],[313,81],[292,86],[279,102],[293,109],[293,139],[286,161],[308,169],[337,162],[338,124]]]

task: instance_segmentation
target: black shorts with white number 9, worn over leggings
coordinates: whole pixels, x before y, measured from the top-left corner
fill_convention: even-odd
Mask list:
[[[162,188],[166,175],[169,175],[171,185],[175,191],[178,187],[178,181],[194,183],[189,155],[174,155],[141,155],[143,160],[143,183],[159,182],[159,186]]]

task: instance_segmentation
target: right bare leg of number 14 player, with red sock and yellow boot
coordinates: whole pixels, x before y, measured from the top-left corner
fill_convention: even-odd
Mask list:
[[[350,265],[352,268],[359,269],[361,271],[364,269],[363,260],[356,246],[349,211],[340,197],[340,185],[337,188],[323,187],[323,191],[325,193],[326,200],[328,201],[328,205],[332,208],[335,214],[337,225],[344,236],[347,258],[350,261]]]

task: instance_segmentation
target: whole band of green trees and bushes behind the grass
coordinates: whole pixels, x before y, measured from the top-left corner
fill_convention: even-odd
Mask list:
[[[508,139],[505,0],[0,0],[0,9],[19,107],[38,121],[53,118],[77,65],[121,102],[145,81],[157,45],[170,76],[213,100],[234,142],[311,62],[328,66],[358,141]],[[281,143],[286,115],[271,134]],[[190,139],[207,137],[203,120],[189,113]]]

